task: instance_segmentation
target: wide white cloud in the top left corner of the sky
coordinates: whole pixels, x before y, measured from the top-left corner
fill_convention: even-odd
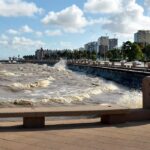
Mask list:
[[[25,0],[0,0],[0,16],[17,17],[33,16],[41,13],[42,8],[38,8],[35,3]]]

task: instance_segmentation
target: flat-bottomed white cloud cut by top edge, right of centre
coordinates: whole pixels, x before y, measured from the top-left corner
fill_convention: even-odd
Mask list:
[[[121,0],[87,0],[84,4],[84,10],[91,13],[116,13],[121,9]]]

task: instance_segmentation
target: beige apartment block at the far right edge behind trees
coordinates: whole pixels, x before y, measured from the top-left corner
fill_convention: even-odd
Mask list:
[[[134,34],[134,42],[144,46],[150,44],[150,30],[139,30]]]

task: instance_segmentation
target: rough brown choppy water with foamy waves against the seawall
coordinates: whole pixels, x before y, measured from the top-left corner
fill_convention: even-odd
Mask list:
[[[0,64],[0,106],[118,104],[142,107],[142,92],[66,68],[46,64]]]

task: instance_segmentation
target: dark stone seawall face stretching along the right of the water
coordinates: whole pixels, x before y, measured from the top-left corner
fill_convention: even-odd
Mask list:
[[[76,65],[76,64],[68,64],[67,67],[68,69],[73,71],[96,75],[134,89],[141,89],[143,78],[145,76],[150,75],[150,73],[147,72],[125,70],[119,68],[109,68],[109,67],[98,67],[98,66]]]

